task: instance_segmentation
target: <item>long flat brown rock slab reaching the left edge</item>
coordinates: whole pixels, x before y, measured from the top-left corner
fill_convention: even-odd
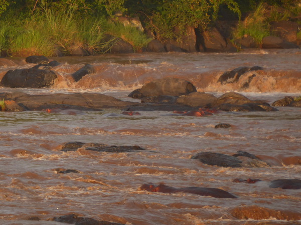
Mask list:
[[[11,92],[0,93],[0,99],[14,100],[26,110],[42,110],[47,108],[101,110],[102,108],[124,108],[133,103],[101,93],[33,95],[23,92]]]

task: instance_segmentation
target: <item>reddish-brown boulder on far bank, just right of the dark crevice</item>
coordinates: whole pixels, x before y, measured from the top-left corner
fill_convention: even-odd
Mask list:
[[[207,52],[224,51],[227,47],[225,38],[216,27],[212,27],[203,32],[204,49]]]

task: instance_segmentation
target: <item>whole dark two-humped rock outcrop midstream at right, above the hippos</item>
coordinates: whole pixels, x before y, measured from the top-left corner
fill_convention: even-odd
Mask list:
[[[208,165],[222,167],[266,167],[268,163],[262,161],[253,154],[245,151],[237,151],[236,154],[226,155],[211,151],[202,151],[191,157]]]

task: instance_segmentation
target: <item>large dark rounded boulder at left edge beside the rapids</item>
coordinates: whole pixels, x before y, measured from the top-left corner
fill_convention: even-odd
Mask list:
[[[0,85],[7,87],[50,87],[57,75],[47,69],[25,68],[9,70],[2,78]]]

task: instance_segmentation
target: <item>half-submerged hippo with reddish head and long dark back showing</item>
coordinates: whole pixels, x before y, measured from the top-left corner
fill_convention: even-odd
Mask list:
[[[212,197],[219,197],[219,198],[237,198],[236,196],[229,193],[228,191],[218,189],[218,188],[196,187],[196,186],[176,188],[176,187],[167,186],[163,183],[160,183],[158,186],[155,186],[152,183],[148,183],[148,184],[144,183],[142,186],[140,186],[140,190],[148,190],[148,191],[163,192],[163,193],[186,192],[186,193],[194,193],[203,196],[212,196]]]

